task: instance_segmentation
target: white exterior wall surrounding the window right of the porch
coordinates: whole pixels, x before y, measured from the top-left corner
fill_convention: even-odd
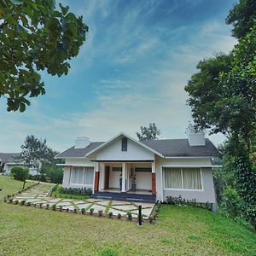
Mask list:
[[[186,189],[164,189],[164,178],[162,166],[210,166],[210,158],[177,158],[177,159],[161,159],[156,157],[155,175],[156,175],[156,196],[157,200],[165,201],[166,196],[177,197],[181,195],[185,199],[195,199],[198,202],[215,203],[215,191],[212,178],[212,168],[201,168],[202,190],[186,190]]]

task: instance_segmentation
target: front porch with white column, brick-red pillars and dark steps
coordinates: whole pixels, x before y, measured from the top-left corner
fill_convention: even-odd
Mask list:
[[[154,202],[154,161],[97,162],[93,197],[117,201]]]

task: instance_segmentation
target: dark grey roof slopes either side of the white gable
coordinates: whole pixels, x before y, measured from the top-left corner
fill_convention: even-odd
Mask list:
[[[149,148],[163,154],[165,157],[171,156],[218,156],[218,149],[209,139],[206,139],[205,146],[190,146],[188,139],[168,139],[168,140],[150,140],[142,142]],[[90,143],[86,148],[68,148],[66,151],[58,154],[57,158],[66,157],[84,157],[91,150],[102,145],[101,143]]]

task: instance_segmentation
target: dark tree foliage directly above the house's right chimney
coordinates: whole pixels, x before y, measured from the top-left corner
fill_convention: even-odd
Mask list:
[[[225,112],[224,92],[218,83],[220,72],[229,72],[231,55],[218,54],[200,61],[198,73],[192,75],[185,90],[189,93],[187,101],[192,109],[192,117],[197,130],[211,129],[212,133],[229,131]]]

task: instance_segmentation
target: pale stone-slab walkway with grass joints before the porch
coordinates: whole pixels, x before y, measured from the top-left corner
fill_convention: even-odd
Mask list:
[[[90,208],[94,209],[94,212],[102,210],[103,213],[108,214],[108,212],[113,212],[113,215],[117,216],[119,213],[122,216],[126,216],[127,212],[131,212],[133,217],[137,217],[137,208],[139,205],[143,207],[143,218],[148,218],[153,210],[154,204],[142,203],[142,202],[131,202],[131,201],[109,201],[100,199],[66,199],[58,197],[50,197],[49,191],[52,189],[53,185],[50,183],[40,183],[32,189],[27,189],[20,195],[15,196],[14,201],[26,201],[32,204],[39,205],[43,204],[43,207],[49,205],[56,205],[57,208],[62,207],[63,210],[68,209],[73,211],[81,211],[84,208],[85,212],[90,212]]]

